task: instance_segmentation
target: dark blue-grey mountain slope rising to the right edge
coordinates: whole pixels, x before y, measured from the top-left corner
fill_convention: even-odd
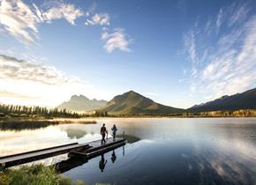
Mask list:
[[[204,112],[214,110],[256,109],[256,88],[244,93],[222,96],[219,99],[195,105],[188,112]]]

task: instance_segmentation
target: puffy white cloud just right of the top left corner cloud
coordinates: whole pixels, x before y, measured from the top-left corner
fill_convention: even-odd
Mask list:
[[[44,11],[42,17],[48,22],[53,19],[65,18],[70,24],[75,25],[75,20],[83,14],[83,11],[77,9],[73,4],[57,4],[48,11]]]

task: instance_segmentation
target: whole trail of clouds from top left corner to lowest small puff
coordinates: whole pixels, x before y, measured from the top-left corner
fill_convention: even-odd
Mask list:
[[[45,8],[45,7],[44,7]],[[115,48],[122,51],[131,51],[129,45],[131,40],[127,39],[124,29],[114,29],[113,33],[107,33],[106,27],[110,26],[108,13],[94,13],[94,8],[85,12],[74,4],[53,3],[42,9],[36,4],[25,4],[22,0],[0,1],[0,31],[9,33],[11,36],[29,45],[35,43],[39,37],[38,26],[42,23],[51,23],[55,19],[66,19],[72,26],[79,17],[87,18],[85,25],[102,26],[102,40],[104,47],[109,53]]]

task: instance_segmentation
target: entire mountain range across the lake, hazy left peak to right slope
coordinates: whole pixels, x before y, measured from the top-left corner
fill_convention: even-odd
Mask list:
[[[112,100],[89,100],[84,95],[72,95],[71,100],[64,101],[58,108],[72,111],[108,112],[110,115],[169,115],[185,112],[207,112],[218,110],[256,109],[256,88],[243,93],[223,95],[200,105],[187,109],[169,107],[155,102],[139,93],[129,91],[118,94]]]

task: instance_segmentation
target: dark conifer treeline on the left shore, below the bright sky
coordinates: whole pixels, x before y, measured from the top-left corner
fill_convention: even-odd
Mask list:
[[[26,107],[15,105],[0,105],[0,116],[9,115],[11,117],[26,117],[26,116],[43,116],[64,117],[64,118],[79,118],[81,115],[75,112],[67,111],[66,109],[58,110],[57,108],[47,107]]]

